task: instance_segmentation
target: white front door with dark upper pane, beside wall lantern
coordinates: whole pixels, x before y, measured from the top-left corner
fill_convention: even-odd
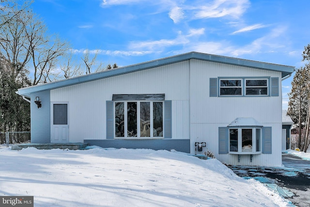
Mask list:
[[[51,103],[51,143],[69,142],[68,103]]]

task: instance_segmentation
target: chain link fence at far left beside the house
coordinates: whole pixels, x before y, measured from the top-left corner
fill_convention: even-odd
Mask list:
[[[29,143],[31,140],[30,132],[1,132],[0,144]]]

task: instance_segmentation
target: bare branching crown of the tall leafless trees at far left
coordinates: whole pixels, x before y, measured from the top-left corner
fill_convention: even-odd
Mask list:
[[[0,52],[11,62],[15,77],[28,63],[33,72],[32,85],[47,82],[56,61],[68,50],[67,43],[48,36],[44,23],[29,8],[0,16],[7,22],[0,28]]]

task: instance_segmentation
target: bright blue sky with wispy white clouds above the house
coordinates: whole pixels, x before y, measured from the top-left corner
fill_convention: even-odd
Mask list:
[[[75,56],[119,66],[196,51],[303,66],[309,0],[35,0]],[[282,82],[283,108],[292,77]]]

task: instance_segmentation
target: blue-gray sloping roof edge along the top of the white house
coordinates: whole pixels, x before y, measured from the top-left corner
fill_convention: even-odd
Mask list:
[[[277,71],[281,72],[282,77],[290,75],[294,72],[294,66],[286,66],[286,65],[278,65],[266,62],[258,62],[253,60],[247,59],[237,59],[237,58],[230,58],[224,56],[217,56],[217,55],[210,55],[198,52],[189,52],[181,55],[176,55],[168,58],[163,59],[155,59],[148,62],[142,62],[135,65],[120,67],[116,69],[111,69],[103,72],[93,73],[82,75],[74,78],[64,79],[60,81],[55,81],[51,83],[26,87],[22,89],[18,89],[16,93],[23,96],[30,96],[31,93],[44,91],[44,90],[51,90],[51,89],[58,89],[62,87],[72,86],[80,83],[85,83],[89,81],[99,80],[102,78],[112,77],[121,74],[128,74],[133,73],[141,70],[146,70],[150,68],[155,68],[163,65],[168,65],[176,62],[182,62],[190,59],[199,59],[211,62],[218,62],[223,64],[229,65],[236,65],[242,67],[249,67],[261,70],[269,70],[269,71]]]

